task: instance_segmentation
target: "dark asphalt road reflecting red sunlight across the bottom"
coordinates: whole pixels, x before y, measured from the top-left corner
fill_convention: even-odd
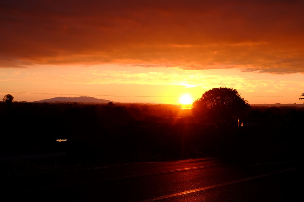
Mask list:
[[[296,201],[298,161],[214,157],[2,175],[2,197],[44,201]]]

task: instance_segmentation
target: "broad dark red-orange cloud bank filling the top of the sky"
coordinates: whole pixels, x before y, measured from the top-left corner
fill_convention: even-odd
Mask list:
[[[304,72],[303,1],[1,1],[0,66]]]

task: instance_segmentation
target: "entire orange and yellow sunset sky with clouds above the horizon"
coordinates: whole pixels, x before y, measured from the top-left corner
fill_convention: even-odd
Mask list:
[[[0,96],[301,103],[304,1],[0,1]]]

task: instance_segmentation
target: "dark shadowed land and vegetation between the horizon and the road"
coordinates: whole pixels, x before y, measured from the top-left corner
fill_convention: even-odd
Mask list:
[[[1,172],[206,156],[292,160],[300,157],[304,121],[296,107],[251,107],[243,126],[225,127],[183,117],[174,105],[2,102],[0,113]],[[52,157],[22,160],[59,152],[56,164]]]

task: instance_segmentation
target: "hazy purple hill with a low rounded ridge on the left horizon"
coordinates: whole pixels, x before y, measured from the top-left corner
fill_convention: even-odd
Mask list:
[[[43,102],[77,102],[77,103],[115,103],[107,99],[98,99],[95,97],[80,96],[80,97],[54,97],[50,99],[43,99],[39,101],[34,101],[33,103],[43,103]]]

